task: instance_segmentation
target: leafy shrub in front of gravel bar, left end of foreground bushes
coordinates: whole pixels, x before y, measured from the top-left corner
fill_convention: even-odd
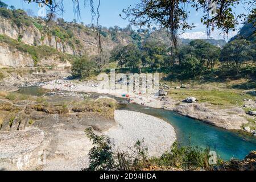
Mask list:
[[[94,147],[89,151],[89,168],[86,171],[113,171],[137,170],[147,166],[147,148],[143,141],[135,145],[133,155],[127,152],[113,152],[110,138],[104,135],[97,136],[91,128],[85,130],[86,137],[92,140]]]

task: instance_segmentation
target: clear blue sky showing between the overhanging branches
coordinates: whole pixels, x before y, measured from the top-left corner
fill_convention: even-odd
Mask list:
[[[38,6],[35,5],[35,3],[31,3],[28,5],[27,3],[24,3],[23,0],[2,0],[3,2],[7,3],[8,5],[14,5],[17,8],[20,9],[32,9],[37,15],[38,13]],[[90,14],[90,7],[89,5],[84,9],[83,0],[81,1],[81,22],[84,22],[85,24],[90,24],[92,16]],[[97,2],[98,0],[96,0]],[[129,7],[130,5],[135,5],[138,3],[139,0],[129,0],[129,1],[123,1],[123,0],[101,0],[101,6],[100,6],[100,24],[105,27],[113,27],[115,25],[119,27],[126,27],[129,22],[127,20],[123,20],[119,17],[119,14],[122,14],[122,10]],[[97,5],[95,5],[97,6]],[[63,14],[62,18],[65,20],[71,22],[75,17],[75,14],[73,13],[73,4],[71,0],[64,0],[64,10],[65,13]],[[238,6],[235,9],[235,12],[242,13],[245,10],[243,9],[242,5]],[[192,31],[189,32],[205,32],[205,27],[200,22],[202,13],[196,12],[195,10],[191,10],[191,14],[189,15],[188,22],[189,23],[195,23],[196,27],[193,28]],[[241,27],[241,26],[239,26]],[[216,35],[218,32],[216,32]]]

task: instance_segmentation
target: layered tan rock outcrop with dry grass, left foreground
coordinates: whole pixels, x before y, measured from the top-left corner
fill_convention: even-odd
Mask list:
[[[1,170],[80,170],[89,164],[92,148],[84,130],[92,127],[100,132],[115,126],[114,118],[74,113],[51,99],[41,109],[32,103],[26,100],[16,106],[0,100],[0,113],[6,116],[0,117]]]

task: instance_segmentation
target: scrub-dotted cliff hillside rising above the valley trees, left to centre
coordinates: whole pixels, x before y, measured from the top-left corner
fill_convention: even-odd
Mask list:
[[[84,52],[88,55],[96,55],[98,53],[97,30],[93,24],[84,25],[84,23],[76,23],[76,20],[69,23],[65,22],[62,18],[53,18],[46,25],[45,20],[28,16],[26,11],[20,9],[10,10],[3,7],[0,8],[0,16],[3,19],[10,20],[11,26],[18,29],[18,37],[16,39],[19,42],[24,42],[24,32],[32,28],[32,30],[38,31],[36,34],[40,34],[34,38],[34,46],[40,46],[49,42],[49,46],[58,49],[58,46],[51,45],[50,43],[52,42],[51,39],[56,39],[56,44],[59,43],[60,46],[70,47],[76,55],[82,55]],[[170,45],[170,40],[164,29],[156,30],[156,28],[153,28],[150,32],[148,30],[135,31],[129,26],[126,28],[114,26],[110,28],[102,27],[100,33],[102,48],[108,51],[120,44],[122,46],[126,46],[127,44],[141,46],[148,40],[160,41],[167,46]],[[188,40],[180,39],[180,43],[183,42],[188,42]],[[222,41],[214,39],[209,40],[209,42],[216,46],[218,44],[223,46],[224,44]]]

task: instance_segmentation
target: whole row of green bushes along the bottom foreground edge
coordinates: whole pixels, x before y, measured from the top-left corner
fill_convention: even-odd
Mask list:
[[[171,151],[160,158],[148,158],[147,148],[138,141],[133,148],[133,154],[127,151],[113,152],[109,137],[95,135],[92,129],[86,129],[86,136],[93,141],[94,147],[89,152],[90,165],[85,170],[142,170],[150,166],[160,168],[178,168],[185,170],[213,169],[209,164],[209,148],[193,146],[178,147],[174,143]],[[221,160],[218,160],[218,164]]]

